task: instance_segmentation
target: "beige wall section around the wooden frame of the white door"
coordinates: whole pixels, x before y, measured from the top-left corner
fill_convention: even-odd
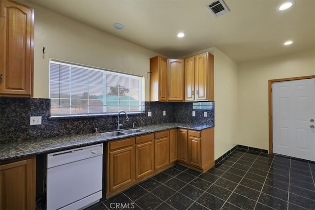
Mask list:
[[[268,150],[268,80],[307,75],[315,75],[314,50],[239,64],[237,144]]]

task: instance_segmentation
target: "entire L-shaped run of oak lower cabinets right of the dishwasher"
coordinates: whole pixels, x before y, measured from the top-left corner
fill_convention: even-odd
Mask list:
[[[176,163],[205,172],[214,161],[214,128],[171,129],[107,143],[106,198]],[[105,189],[105,187],[104,187]]]

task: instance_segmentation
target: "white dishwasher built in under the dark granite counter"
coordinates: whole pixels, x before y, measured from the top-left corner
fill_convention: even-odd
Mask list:
[[[77,210],[102,198],[103,144],[47,155],[47,210]]]

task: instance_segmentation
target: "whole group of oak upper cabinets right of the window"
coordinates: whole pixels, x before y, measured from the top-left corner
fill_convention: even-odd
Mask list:
[[[214,56],[151,58],[150,101],[214,101]]]

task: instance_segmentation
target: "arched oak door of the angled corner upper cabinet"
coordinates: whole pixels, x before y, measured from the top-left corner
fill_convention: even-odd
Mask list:
[[[168,100],[184,101],[184,60],[168,59]]]

